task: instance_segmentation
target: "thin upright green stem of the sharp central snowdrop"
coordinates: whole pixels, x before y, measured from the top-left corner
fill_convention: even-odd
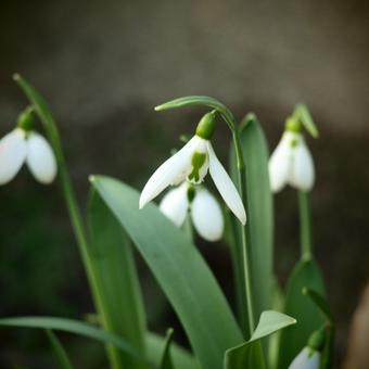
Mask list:
[[[247,191],[245,183],[245,165],[243,160],[243,152],[240,141],[240,135],[238,127],[233,127],[233,143],[237,158],[237,168],[239,175],[239,189],[241,192],[241,199],[243,205],[245,206],[247,202]],[[254,294],[253,294],[253,284],[251,280],[251,243],[247,240],[247,231],[246,227],[241,225],[241,238],[242,238],[242,262],[243,262],[243,273],[245,280],[245,295],[247,302],[247,316],[249,316],[249,335],[251,336],[255,329],[255,318],[254,318]]]

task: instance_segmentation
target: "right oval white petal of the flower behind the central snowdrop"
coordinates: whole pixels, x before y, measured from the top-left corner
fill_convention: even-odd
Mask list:
[[[220,240],[225,228],[221,208],[207,190],[196,190],[191,216],[194,228],[203,239],[212,242]]]

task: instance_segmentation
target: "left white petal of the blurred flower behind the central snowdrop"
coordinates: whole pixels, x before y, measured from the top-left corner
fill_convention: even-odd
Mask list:
[[[180,187],[170,190],[162,200],[160,209],[166,215],[177,227],[181,227],[184,222],[189,202],[187,199],[188,184],[184,182]]]

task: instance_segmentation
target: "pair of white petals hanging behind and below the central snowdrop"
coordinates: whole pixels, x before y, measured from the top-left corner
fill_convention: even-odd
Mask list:
[[[225,228],[221,208],[216,199],[202,186],[194,189],[194,198],[190,203],[188,190],[191,187],[183,182],[170,190],[162,200],[160,209],[177,227],[181,227],[190,211],[191,219],[198,233],[207,241],[218,241]]]

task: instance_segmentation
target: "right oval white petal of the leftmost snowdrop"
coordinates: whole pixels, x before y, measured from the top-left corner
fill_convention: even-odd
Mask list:
[[[50,143],[39,133],[27,138],[27,166],[41,183],[51,183],[56,176],[56,160]]]

